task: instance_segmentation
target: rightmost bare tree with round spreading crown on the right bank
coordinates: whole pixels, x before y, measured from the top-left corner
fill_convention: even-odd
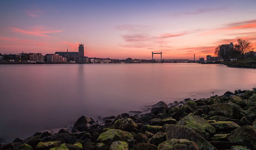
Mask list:
[[[243,58],[245,53],[248,53],[254,50],[252,42],[243,40],[241,38],[237,39],[237,42],[238,43],[234,45],[234,49],[240,52],[243,55]]]

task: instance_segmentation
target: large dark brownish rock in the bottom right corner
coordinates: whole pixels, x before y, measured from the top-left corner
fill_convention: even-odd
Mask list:
[[[249,125],[237,128],[227,136],[228,141],[256,149],[256,130]]]

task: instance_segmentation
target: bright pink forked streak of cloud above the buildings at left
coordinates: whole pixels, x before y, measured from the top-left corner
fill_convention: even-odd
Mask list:
[[[41,31],[41,27],[38,29],[34,29],[32,31],[26,31],[26,30],[22,30],[19,28],[15,28],[15,27],[10,27],[10,29],[12,29],[14,32],[19,32],[19,33],[24,33],[24,34],[30,34],[30,35],[35,35],[35,36],[40,36],[40,37],[51,37],[49,35],[47,35],[47,33],[57,33],[57,32],[63,32],[62,30],[56,30],[56,31]]]

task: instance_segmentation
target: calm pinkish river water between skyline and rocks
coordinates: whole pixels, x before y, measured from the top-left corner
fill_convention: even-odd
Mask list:
[[[256,69],[193,63],[0,65],[0,137],[12,141],[81,115],[256,87]],[[212,93],[214,92],[214,93]]]

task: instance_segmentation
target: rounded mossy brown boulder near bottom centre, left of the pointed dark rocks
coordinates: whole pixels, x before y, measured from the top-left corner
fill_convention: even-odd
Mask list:
[[[119,119],[114,123],[114,129],[121,129],[123,131],[135,131],[137,124],[131,118]]]

